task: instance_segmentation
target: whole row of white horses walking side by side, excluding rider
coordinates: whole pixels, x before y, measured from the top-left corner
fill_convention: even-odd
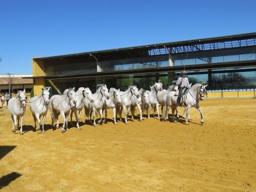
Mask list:
[[[203,124],[202,110],[199,107],[199,100],[204,99],[206,92],[205,87],[200,83],[191,86],[188,91],[182,95],[182,102],[184,106],[183,116],[185,116],[185,123],[188,124],[189,109],[194,106],[200,111],[201,123]],[[68,130],[67,121],[70,113],[70,120],[72,124],[72,114],[75,115],[76,128],[79,127],[79,120],[82,109],[85,111],[85,121],[91,123],[91,115],[93,113],[93,125],[96,126],[96,113],[100,115],[100,119],[97,123],[106,122],[107,110],[113,109],[113,120],[116,124],[117,114],[122,121],[122,110],[124,111],[124,122],[127,124],[127,117],[129,110],[131,110],[131,118],[133,119],[135,107],[139,110],[139,120],[142,121],[143,111],[149,118],[149,110],[153,108],[153,116],[155,110],[157,112],[158,119],[160,119],[158,105],[161,105],[161,119],[168,119],[168,110],[171,108],[172,120],[176,122],[174,118],[174,111],[176,110],[176,118],[179,118],[177,112],[177,95],[178,86],[170,85],[168,89],[162,89],[162,84],[155,82],[153,86],[150,86],[150,90],[144,90],[138,88],[135,85],[128,86],[125,91],[120,91],[116,88],[110,88],[109,91],[106,85],[100,85],[95,93],[91,93],[88,87],[80,87],[77,91],[73,88],[65,89],[63,94],[55,94],[49,98],[49,89],[42,88],[39,96],[34,96],[29,101],[29,107],[34,118],[35,130],[40,130],[40,124],[42,124],[41,132],[44,133],[44,120],[48,108],[51,114],[51,125],[54,127],[56,121],[56,128],[59,128],[58,116],[59,114],[63,118],[63,126],[61,132]],[[25,89],[19,90],[16,97],[12,97],[8,103],[8,112],[12,119],[12,131],[15,132],[20,125],[20,134],[22,132],[23,117],[26,109],[27,98]],[[78,111],[78,114],[77,114]],[[103,118],[103,111],[105,111],[105,117]],[[42,117],[42,120],[40,118]],[[19,122],[20,118],[20,122]]]

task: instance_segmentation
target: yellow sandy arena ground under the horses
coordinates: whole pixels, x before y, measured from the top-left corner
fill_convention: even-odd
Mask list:
[[[33,132],[27,107],[24,135],[0,109],[2,191],[256,191],[256,99],[200,105],[204,125],[193,108],[189,125],[143,117],[62,134],[49,111],[50,129]]]

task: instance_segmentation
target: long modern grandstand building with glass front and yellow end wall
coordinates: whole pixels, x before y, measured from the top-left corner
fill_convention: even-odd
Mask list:
[[[256,87],[256,33],[166,42],[33,57],[34,93],[51,86],[54,93],[69,86],[105,83],[125,89],[129,84],[149,89],[159,78],[172,83],[185,69],[192,83],[208,84],[208,93],[252,91]],[[222,93],[221,93],[222,94]]]

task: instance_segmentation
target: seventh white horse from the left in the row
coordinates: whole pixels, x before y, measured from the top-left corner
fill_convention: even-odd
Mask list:
[[[135,95],[137,98],[139,98],[138,88],[136,87],[136,85],[131,85],[125,91],[120,91],[120,94],[121,94],[121,105],[117,105],[117,113],[120,116],[120,121],[122,121],[122,109],[123,109],[125,124],[128,124],[127,116],[130,110],[131,96]]]

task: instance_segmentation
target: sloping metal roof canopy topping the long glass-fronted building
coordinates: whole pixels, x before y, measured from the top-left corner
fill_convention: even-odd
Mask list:
[[[115,48],[99,51],[81,52],[65,55],[47,56],[47,57],[33,57],[33,60],[51,59],[51,58],[62,58],[62,57],[76,57],[95,54],[97,56],[104,54],[116,54],[125,51],[138,52],[139,55],[150,56],[158,54],[171,54],[181,52],[193,52],[203,50],[215,50],[222,48],[233,48],[233,47],[246,47],[256,45],[256,32],[243,33],[235,35],[218,36],[211,38],[201,38],[193,40],[183,40],[175,42],[166,42],[158,44],[148,44],[143,46],[131,46],[125,48]],[[142,52],[140,52],[142,51]]]

